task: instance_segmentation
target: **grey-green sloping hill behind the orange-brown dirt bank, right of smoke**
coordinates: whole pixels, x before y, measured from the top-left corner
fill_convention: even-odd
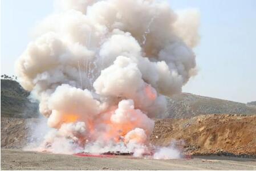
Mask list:
[[[168,99],[169,118],[190,118],[207,114],[255,115],[256,106],[229,100],[182,93]]]

